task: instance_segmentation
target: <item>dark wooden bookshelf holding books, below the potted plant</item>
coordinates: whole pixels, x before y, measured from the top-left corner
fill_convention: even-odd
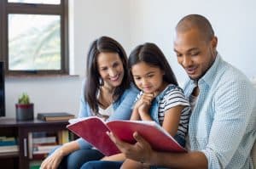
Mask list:
[[[67,121],[16,121],[1,118],[0,137],[15,137],[18,147],[13,152],[0,151],[1,168],[34,168],[31,164],[40,163],[46,155],[43,144],[49,142],[49,145],[58,145],[73,139],[73,134],[66,129],[67,124]],[[37,141],[42,143],[38,144]],[[44,152],[38,152],[37,146]]]

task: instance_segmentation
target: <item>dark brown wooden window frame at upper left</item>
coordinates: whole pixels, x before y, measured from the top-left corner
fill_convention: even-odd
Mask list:
[[[1,12],[2,11],[2,12]],[[56,14],[61,17],[61,70],[9,70],[9,14]],[[0,1],[0,60],[4,61],[5,74],[19,75],[68,75],[68,0],[60,4],[8,3]]]

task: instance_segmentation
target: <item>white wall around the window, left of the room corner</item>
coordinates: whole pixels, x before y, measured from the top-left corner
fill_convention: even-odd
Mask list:
[[[38,112],[67,111],[78,115],[81,82],[89,44],[96,37],[108,35],[125,47],[130,46],[129,1],[70,0],[69,77],[8,77],[5,81],[6,116],[15,117],[15,103],[21,93],[30,95]]]

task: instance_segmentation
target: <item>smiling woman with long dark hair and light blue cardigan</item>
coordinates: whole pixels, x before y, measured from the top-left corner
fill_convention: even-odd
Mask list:
[[[128,120],[138,90],[128,72],[124,48],[110,37],[92,42],[87,56],[86,77],[80,99],[79,117],[97,115],[106,121]],[[79,168],[103,157],[84,139],[62,145],[47,157],[41,168]]]

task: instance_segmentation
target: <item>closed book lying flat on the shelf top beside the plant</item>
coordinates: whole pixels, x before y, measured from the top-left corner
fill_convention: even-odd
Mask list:
[[[69,119],[73,119],[74,115],[58,112],[58,113],[38,113],[38,120],[41,121],[68,121]]]

